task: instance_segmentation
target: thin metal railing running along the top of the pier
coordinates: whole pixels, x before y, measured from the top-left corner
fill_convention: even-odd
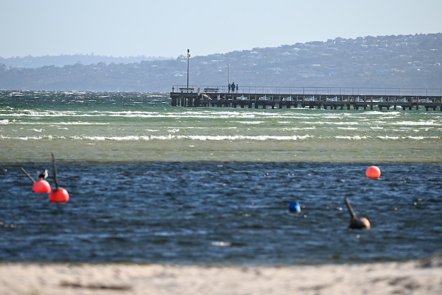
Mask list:
[[[205,92],[205,89],[218,89],[219,93],[228,93],[228,86],[219,85],[173,85],[172,92],[179,89],[194,89],[194,92]],[[235,90],[236,93],[236,90]],[[363,87],[273,87],[273,86],[239,86],[238,93],[267,94],[305,94],[305,95],[407,95],[407,96],[442,96],[442,89],[425,88],[363,88]]]

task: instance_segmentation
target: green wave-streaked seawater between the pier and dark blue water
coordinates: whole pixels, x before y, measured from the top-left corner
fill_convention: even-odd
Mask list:
[[[170,106],[168,93],[0,91],[0,161],[442,163],[442,112]]]

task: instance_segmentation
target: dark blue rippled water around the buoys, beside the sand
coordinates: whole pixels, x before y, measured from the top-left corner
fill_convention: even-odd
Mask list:
[[[379,165],[372,180],[359,164],[58,162],[64,204],[32,193],[22,166],[34,178],[52,168],[1,167],[2,262],[299,265],[442,250],[440,165]],[[347,228],[345,196],[371,230]]]

